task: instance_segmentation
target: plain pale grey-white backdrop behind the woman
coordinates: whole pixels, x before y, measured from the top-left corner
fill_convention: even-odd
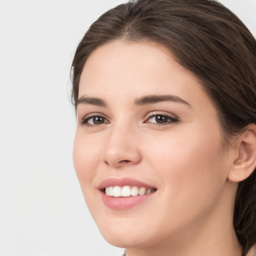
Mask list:
[[[100,14],[125,0],[0,0],[0,256],[120,256],[72,165],[69,69]],[[256,35],[256,0],[221,0]]]

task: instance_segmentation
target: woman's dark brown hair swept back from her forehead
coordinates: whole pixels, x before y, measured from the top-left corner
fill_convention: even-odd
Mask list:
[[[167,47],[192,71],[218,110],[223,137],[256,123],[256,41],[230,10],[215,0],[137,0],[102,14],[77,46],[72,100],[86,59],[112,40],[151,41]],[[243,255],[256,242],[256,174],[238,184],[233,225]]]

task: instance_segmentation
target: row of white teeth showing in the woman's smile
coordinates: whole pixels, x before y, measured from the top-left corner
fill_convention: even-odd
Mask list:
[[[155,189],[153,188],[145,188],[145,187],[137,187],[125,185],[123,187],[120,186],[107,186],[105,187],[105,194],[114,196],[114,197],[128,197],[128,196],[136,196],[136,195],[145,195],[149,194]]]

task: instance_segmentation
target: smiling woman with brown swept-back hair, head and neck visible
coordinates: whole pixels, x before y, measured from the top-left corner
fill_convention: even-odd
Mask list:
[[[128,2],[90,26],[72,63],[73,160],[109,243],[254,253],[255,66],[255,39],[213,0]]]

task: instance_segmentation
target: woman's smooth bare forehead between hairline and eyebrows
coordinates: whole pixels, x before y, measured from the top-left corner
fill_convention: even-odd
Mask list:
[[[124,101],[143,94],[173,94],[185,101],[211,104],[197,77],[166,48],[120,40],[98,47],[88,57],[78,97],[84,94]]]

